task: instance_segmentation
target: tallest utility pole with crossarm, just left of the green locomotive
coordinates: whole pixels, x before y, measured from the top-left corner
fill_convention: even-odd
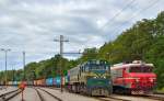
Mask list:
[[[60,89],[61,92],[63,91],[63,74],[62,74],[62,55],[63,55],[63,42],[69,42],[68,40],[65,40],[63,35],[60,35],[60,40],[54,40],[54,42],[59,42],[60,43]]]

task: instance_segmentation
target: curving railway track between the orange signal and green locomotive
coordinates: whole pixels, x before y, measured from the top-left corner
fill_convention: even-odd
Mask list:
[[[44,89],[42,89],[42,88],[34,88],[34,89],[36,90],[37,94],[39,96],[40,101],[46,101],[46,99],[45,99],[44,96],[40,93],[40,91],[47,93],[48,96],[52,97],[52,98],[54,98],[55,100],[57,100],[57,101],[62,101],[60,98],[58,98],[57,96],[55,96],[55,94],[48,92],[47,90],[44,90]]]

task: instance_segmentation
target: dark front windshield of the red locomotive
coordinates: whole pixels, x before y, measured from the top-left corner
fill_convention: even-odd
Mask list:
[[[130,67],[129,72],[152,72],[152,67],[149,66]]]

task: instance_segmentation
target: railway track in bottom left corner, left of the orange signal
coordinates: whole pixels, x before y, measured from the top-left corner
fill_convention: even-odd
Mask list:
[[[13,99],[14,97],[16,97],[20,93],[21,93],[20,89],[5,92],[5,93],[0,96],[0,101],[9,101],[9,100]]]

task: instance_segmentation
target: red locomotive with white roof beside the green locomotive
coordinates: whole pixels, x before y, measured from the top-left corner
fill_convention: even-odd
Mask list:
[[[131,64],[117,64],[112,67],[113,91],[115,93],[148,94],[153,92],[156,75],[153,64],[136,60]]]

